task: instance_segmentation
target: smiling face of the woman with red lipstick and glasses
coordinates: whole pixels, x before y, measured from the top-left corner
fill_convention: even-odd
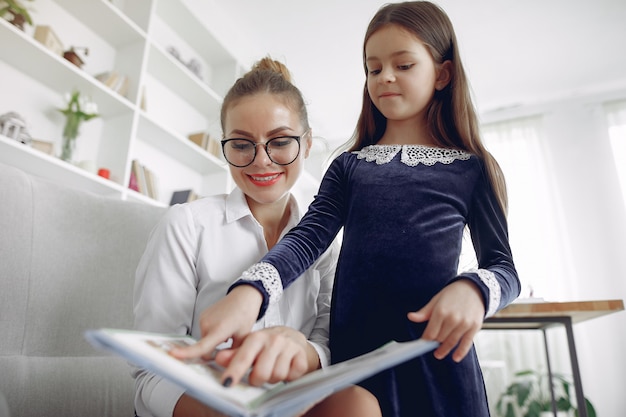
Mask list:
[[[273,94],[244,97],[227,110],[224,138],[249,139],[258,144],[256,157],[250,165],[243,168],[229,165],[230,173],[247,196],[248,204],[273,204],[287,198],[304,169],[304,159],[311,148],[311,134],[302,136],[304,133],[299,114]],[[279,136],[302,136],[300,153],[289,165],[272,162],[262,145]]]

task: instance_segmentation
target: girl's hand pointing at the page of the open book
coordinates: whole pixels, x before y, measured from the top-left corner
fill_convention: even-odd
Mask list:
[[[233,347],[239,346],[256,322],[262,302],[261,293],[250,285],[233,288],[228,295],[202,312],[202,339],[193,346],[172,349],[170,353],[180,359],[210,359],[215,347],[230,338],[233,339]]]

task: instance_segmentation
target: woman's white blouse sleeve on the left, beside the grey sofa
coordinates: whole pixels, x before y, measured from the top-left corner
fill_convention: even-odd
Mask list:
[[[192,217],[184,205],[173,206],[155,226],[135,276],[135,329],[190,334],[196,301]],[[133,367],[135,408],[140,416],[171,416],[184,390]]]

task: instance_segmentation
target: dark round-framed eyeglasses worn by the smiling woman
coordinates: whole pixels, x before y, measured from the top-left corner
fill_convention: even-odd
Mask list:
[[[278,136],[265,143],[243,138],[224,139],[222,153],[226,162],[234,167],[243,168],[254,162],[257,146],[263,145],[270,161],[277,165],[289,165],[298,158],[300,139],[307,133],[308,131],[300,136]]]

